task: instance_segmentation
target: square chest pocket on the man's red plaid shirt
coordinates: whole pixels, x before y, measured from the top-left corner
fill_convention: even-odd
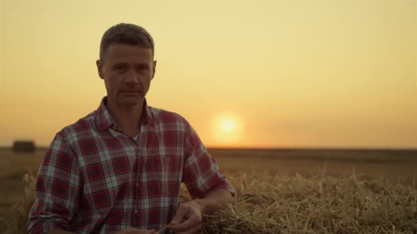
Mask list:
[[[150,196],[178,196],[181,185],[180,157],[148,157],[146,170]]]

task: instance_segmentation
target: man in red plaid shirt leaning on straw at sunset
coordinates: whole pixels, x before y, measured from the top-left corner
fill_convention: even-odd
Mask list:
[[[28,233],[197,233],[202,214],[235,190],[187,120],[147,105],[152,37],[137,25],[110,27],[96,64],[107,96],[51,142]],[[181,182],[193,200],[178,207]]]

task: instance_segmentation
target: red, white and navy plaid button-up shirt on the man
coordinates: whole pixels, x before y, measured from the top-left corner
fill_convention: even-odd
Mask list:
[[[104,97],[58,132],[38,172],[28,233],[159,230],[174,218],[181,182],[197,198],[217,189],[235,194],[182,116],[145,100],[140,125],[136,138],[117,131]]]

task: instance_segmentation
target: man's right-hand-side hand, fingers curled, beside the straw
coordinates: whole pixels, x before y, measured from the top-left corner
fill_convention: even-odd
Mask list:
[[[201,229],[202,207],[195,201],[182,203],[168,226],[176,234],[198,233]]]

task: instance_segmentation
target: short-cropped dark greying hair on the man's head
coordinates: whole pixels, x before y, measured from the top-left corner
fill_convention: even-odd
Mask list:
[[[154,40],[146,29],[139,25],[119,23],[107,29],[103,34],[102,42],[100,42],[100,60],[104,59],[110,44],[137,44],[146,49],[151,49],[152,56],[154,55]]]

